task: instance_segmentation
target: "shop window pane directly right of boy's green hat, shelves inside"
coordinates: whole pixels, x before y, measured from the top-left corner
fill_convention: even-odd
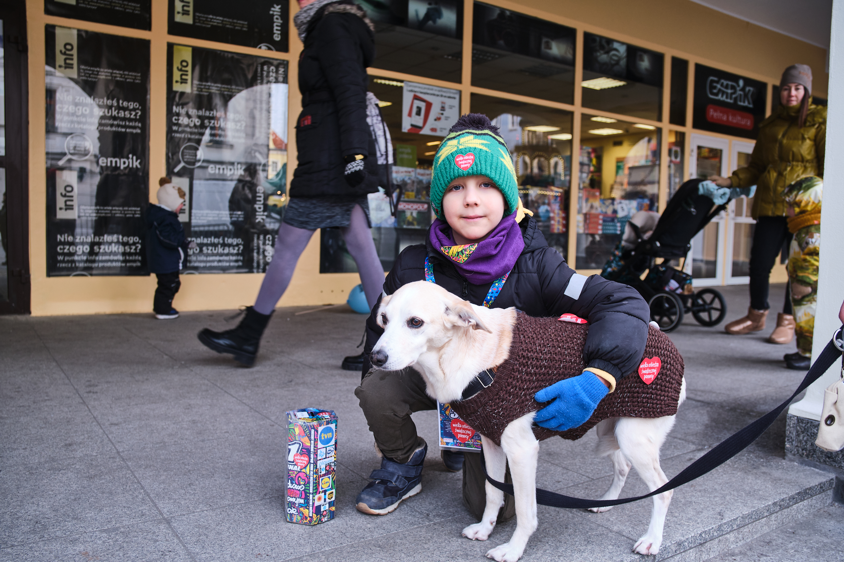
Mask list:
[[[499,127],[510,149],[522,205],[549,246],[568,254],[571,112],[472,94],[472,112]]]

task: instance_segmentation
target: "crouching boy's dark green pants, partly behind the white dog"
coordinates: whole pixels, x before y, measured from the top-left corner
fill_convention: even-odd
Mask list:
[[[425,393],[425,381],[418,372],[413,369],[402,372],[371,370],[354,389],[354,395],[360,400],[360,408],[364,410],[376,445],[385,457],[407,463],[414,451],[425,447],[425,439],[416,432],[410,415],[423,409],[436,409],[436,400]],[[480,520],[486,504],[484,469],[480,453],[467,452],[465,458],[463,503]],[[512,481],[509,468],[505,481]],[[515,515],[513,496],[505,494],[498,520],[506,521]]]

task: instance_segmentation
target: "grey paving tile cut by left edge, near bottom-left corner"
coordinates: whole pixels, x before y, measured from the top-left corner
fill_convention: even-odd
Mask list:
[[[116,454],[3,468],[0,548],[160,519]]]

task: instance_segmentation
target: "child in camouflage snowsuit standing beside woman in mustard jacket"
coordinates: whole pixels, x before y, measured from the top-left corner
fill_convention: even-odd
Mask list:
[[[820,199],[824,182],[810,175],[788,185],[783,193],[788,204],[788,229],[794,234],[788,252],[788,281],[797,326],[796,354],[785,356],[787,367],[808,369],[812,356],[814,310],[818,302],[820,254]],[[799,356],[798,356],[799,355]]]

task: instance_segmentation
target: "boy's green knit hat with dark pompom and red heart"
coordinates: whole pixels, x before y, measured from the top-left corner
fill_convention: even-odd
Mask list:
[[[519,190],[510,151],[499,136],[498,127],[481,113],[462,115],[434,156],[430,204],[441,221],[446,220],[442,214],[446,187],[455,178],[468,175],[485,175],[495,182],[507,203],[505,217],[517,210]]]

